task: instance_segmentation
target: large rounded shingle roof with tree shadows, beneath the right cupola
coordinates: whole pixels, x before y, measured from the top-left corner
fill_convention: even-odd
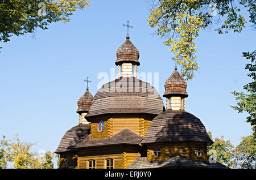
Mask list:
[[[213,143],[195,115],[183,110],[167,110],[152,120],[142,144],[180,141]]]

